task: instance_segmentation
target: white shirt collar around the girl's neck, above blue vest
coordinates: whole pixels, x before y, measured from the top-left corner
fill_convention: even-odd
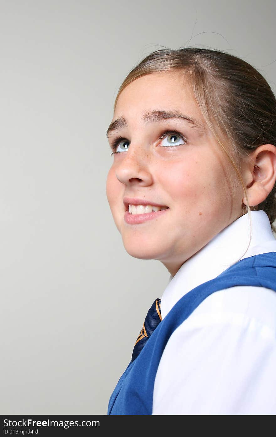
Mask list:
[[[251,218],[252,239],[248,250],[250,222],[246,213],[186,260],[174,277],[170,275],[161,300],[162,319],[188,291],[214,279],[235,262],[259,253],[276,251],[276,239],[266,212],[251,211]]]

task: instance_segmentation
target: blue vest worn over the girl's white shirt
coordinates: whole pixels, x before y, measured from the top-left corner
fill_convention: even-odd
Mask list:
[[[205,298],[236,285],[276,291],[276,252],[244,258],[185,294],[153,331],[138,357],[127,366],[110,397],[108,414],[152,414],[154,380],[170,336]]]

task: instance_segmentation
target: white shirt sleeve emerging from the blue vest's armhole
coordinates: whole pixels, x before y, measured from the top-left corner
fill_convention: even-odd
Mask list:
[[[153,414],[274,414],[275,363],[276,292],[251,286],[214,292],[170,336]]]

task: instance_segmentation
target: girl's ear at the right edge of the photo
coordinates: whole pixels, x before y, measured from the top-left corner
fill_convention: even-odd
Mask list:
[[[275,185],[276,146],[263,144],[250,153],[245,163],[243,177],[247,187],[249,206],[259,205],[267,198]],[[245,196],[242,202],[246,205]]]

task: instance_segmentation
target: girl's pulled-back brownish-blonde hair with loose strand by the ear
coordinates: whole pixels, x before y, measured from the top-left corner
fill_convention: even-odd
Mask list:
[[[273,91],[253,66],[228,53],[188,47],[160,49],[147,55],[126,76],[119,87],[114,109],[119,95],[129,83],[141,76],[164,71],[183,71],[187,76],[208,127],[242,184],[250,221],[250,245],[251,209],[239,167],[241,160],[258,146],[276,145],[276,99]],[[273,224],[276,219],[275,194],[276,184],[257,206],[257,210],[263,210],[268,215],[273,232],[276,232]]]

